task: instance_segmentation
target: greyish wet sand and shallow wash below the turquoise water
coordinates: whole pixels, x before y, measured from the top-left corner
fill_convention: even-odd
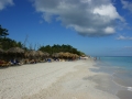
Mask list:
[[[97,62],[96,67],[99,67],[99,69],[91,70],[96,73],[105,73],[103,76],[98,74],[98,76],[92,77],[92,79],[98,84],[98,89],[113,94],[120,99],[132,98],[130,70],[121,67],[120,65],[114,66],[113,64],[108,64],[103,62]],[[128,78],[130,79],[128,80]]]

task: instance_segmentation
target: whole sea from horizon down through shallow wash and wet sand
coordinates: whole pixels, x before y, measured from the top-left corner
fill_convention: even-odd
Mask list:
[[[132,99],[132,56],[97,57],[95,62],[98,68],[91,70],[102,73],[90,78],[97,88],[119,99]]]

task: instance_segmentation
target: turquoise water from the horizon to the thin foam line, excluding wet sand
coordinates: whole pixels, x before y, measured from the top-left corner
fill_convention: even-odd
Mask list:
[[[116,82],[129,89],[132,87],[132,57],[100,57],[100,62],[103,72],[111,73]]]

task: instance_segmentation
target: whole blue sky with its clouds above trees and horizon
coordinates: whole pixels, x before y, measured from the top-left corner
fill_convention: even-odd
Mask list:
[[[26,46],[132,56],[132,0],[0,0],[0,25]]]

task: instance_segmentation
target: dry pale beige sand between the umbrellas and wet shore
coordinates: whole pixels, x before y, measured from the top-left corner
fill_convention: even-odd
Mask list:
[[[94,61],[54,62],[0,69],[0,99],[119,99],[88,77]]]

